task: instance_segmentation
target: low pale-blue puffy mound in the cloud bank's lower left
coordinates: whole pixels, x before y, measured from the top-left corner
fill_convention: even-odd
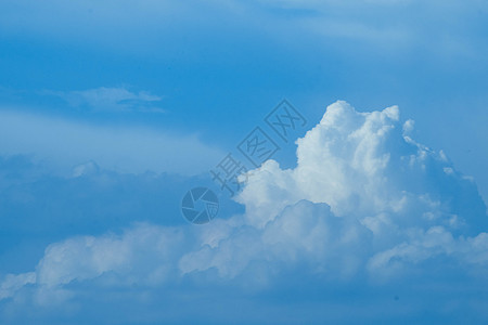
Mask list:
[[[37,266],[37,283],[59,287],[73,281],[107,275],[131,285],[166,280],[183,234],[178,229],[137,225],[123,235],[84,236],[56,243],[46,249]]]

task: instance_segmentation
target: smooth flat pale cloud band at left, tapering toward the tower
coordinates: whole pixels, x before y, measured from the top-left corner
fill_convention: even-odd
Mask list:
[[[0,153],[35,155],[70,170],[90,160],[119,172],[205,172],[223,155],[196,134],[174,134],[141,127],[77,122],[67,119],[0,110]],[[180,148],[184,147],[184,151]],[[196,161],[194,157],[200,157]]]

